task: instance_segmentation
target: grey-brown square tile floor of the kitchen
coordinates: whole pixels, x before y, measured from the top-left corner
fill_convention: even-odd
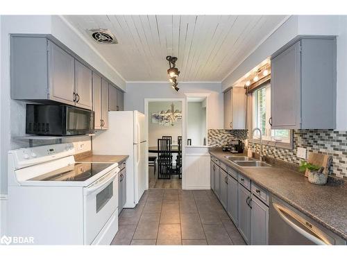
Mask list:
[[[149,189],[124,209],[112,245],[244,245],[213,191]]]

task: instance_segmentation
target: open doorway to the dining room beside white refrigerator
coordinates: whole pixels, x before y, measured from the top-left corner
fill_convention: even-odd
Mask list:
[[[149,189],[181,189],[184,176],[183,98],[145,99]],[[167,139],[167,140],[163,140]],[[169,144],[169,146],[168,146]]]

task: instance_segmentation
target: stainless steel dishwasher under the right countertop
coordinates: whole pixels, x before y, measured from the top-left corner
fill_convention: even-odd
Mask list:
[[[269,211],[270,245],[346,245],[344,239],[275,196]]]

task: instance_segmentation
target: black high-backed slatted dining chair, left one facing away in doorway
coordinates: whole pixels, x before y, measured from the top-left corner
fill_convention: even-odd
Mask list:
[[[170,139],[158,139],[158,179],[170,179],[172,156]]]

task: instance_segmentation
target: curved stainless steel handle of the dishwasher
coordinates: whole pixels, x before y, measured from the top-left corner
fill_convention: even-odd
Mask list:
[[[276,211],[278,212],[278,215],[282,218],[282,220],[285,220],[285,223],[291,226],[299,234],[305,236],[306,239],[312,241],[313,243],[316,243],[317,245],[330,244],[328,241],[321,238],[321,236],[319,236],[318,234],[316,234],[316,236],[313,236],[312,234],[305,231],[307,227],[305,227],[305,225],[302,223],[300,219],[295,218],[295,216],[291,216],[291,211],[286,210],[285,208],[281,207],[277,203],[273,203],[273,207],[276,209]],[[283,212],[285,212],[287,216]],[[298,222],[299,225],[294,223],[292,220],[296,220],[296,222]]]

